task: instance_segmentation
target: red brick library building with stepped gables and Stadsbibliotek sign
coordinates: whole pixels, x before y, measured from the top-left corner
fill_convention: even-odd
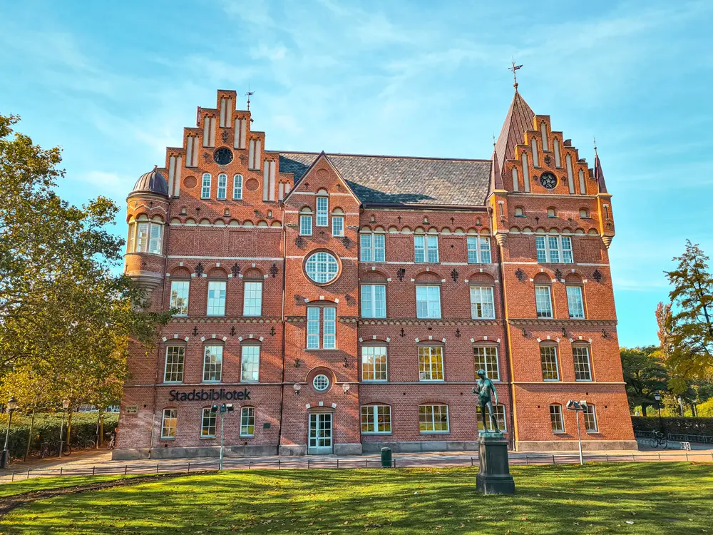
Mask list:
[[[475,449],[476,370],[515,449],[635,448],[611,195],[517,92],[491,158],[270,151],[235,91],[128,196],[130,348],[116,458]]]

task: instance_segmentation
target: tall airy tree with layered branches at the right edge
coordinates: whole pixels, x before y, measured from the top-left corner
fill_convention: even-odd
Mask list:
[[[669,294],[672,306],[660,305],[657,318],[660,316],[660,339],[671,387],[681,393],[688,380],[713,374],[713,275],[709,258],[690,240],[683,255],[674,260],[676,269],[667,272],[673,286]]]

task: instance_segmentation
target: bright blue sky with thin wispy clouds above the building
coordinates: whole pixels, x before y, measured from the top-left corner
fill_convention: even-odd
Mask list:
[[[685,238],[713,254],[710,1],[24,0],[0,20],[0,113],[63,147],[73,203],[123,207],[196,106],[248,84],[271,150],[489,158],[514,56],[590,163],[597,138],[622,345],[656,342]]]

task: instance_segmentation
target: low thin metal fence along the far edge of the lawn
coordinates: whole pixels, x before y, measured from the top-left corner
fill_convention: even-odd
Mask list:
[[[583,455],[585,462],[713,462],[713,452],[657,452],[650,454],[607,454],[590,453]],[[579,464],[578,454],[511,454],[511,465],[544,464]],[[433,468],[433,467],[476,467],[478,456],[473,457],[395,457],[391,466],[394,468]],[[105,476],[136,474],[176,474],[193,472],[214,472],[219,468],[217,459],[205,461],[135,462],[133,464],[99,464],[93,467],[50,467],[26,469],[9,472],[0,477],[0,483],[9,483],[21,479],[49,476]],[[326,457],[320,459],[225,459],[223,469],[376,469],[381,468],[381,461],[376,458],[339,459]]]

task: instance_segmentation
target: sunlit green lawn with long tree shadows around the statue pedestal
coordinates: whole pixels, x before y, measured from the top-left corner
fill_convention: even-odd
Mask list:
[[[253,470],[58,496],[3,534],[713,533],[713,464],[513,467],[515,496],[477,469]],[[627,524],[627,521],[632,524]]]

